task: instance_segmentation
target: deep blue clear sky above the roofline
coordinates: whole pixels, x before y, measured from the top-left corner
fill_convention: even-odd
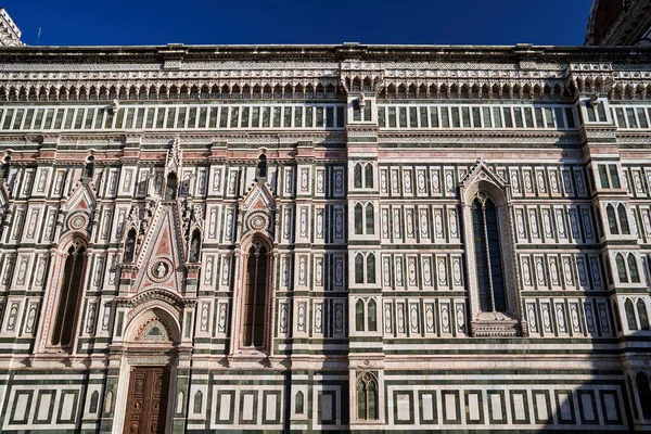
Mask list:
[[[583,44],[591,0],[4,0],[39,44]]]

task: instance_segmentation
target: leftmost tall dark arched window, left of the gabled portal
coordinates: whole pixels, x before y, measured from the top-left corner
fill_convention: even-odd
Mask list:
[[[74,328],[79,310],[79,295],[82,289],[85,252],[86,248],[80,241],[73,242],[67,251],[59,305],[54,317],[52,345],[66,347],[73,343]]]

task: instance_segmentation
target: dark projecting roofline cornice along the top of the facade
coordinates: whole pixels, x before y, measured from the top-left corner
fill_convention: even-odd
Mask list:
[[[226,44],[25,46],[0,48],[2,62],[161,62],[162,60],[363,60],[515,62],[651,62],[651,48],[585,46]]]

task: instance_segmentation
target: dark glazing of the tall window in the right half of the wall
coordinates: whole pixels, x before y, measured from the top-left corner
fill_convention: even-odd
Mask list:
[[[501,265],[497,209],[490,199],[475,199],[472,204],[475,261],[480,309],[507,311],[507,298]]]

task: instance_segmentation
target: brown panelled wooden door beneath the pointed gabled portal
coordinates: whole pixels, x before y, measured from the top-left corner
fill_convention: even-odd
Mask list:
[[[163,434],[168,390],[168,368],[133,368],[129,378],[124,434]]]

